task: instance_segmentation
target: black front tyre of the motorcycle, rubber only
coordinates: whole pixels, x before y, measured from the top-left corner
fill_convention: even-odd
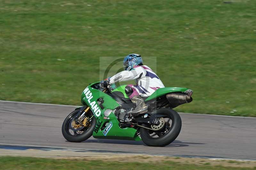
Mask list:
[[[71,112],[66,119],[64,120],[63,124],[62,124],[62,135],[64,136],[65,139],[67,139],[69,142],[83,142],[86,139],[88,139],[89,137],[92,136],[93,130],[96,126],[96,119],[95,117],[92,118],[92,122],[90,127],[83,133],[80,135],[71,135],[69,133],[69,121],[76,116],[76,114],[79,112],[79,109]],[[89,111],[91,112],[91,111]]]

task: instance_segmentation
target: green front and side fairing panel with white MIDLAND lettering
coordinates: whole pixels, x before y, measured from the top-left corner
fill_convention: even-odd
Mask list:
[[[120,105],[108,94],[98,89],[92,88],[91,86],[93,84],[84,89],[81,95],[82,103],[86,104],[91,108],[91,111],[93,112],[93,115],[96,119],[96,127],[93,131],[92,136],[94,138],[102,139],[123,139],[140,141],[140,137],[136,135],[136,129],[119,127],[119,122],[115,114],[113,113],[113,110],[115,110]],[[104,100],[104,103],[102,103],[103,109],[101,109],[98,104],[99,98],[102,98]],[[109,110],[111,110],[110,114],[108,116],[105,116],[104,112],[108,112]],[[105,125],[106,123],[108,123],[108,125],[105,128],[102,128],[103,125]]]

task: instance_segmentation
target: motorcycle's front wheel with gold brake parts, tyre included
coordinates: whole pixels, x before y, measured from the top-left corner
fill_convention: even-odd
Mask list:
[[[83,142],[92,136],[96,125],[96,120],[91,111],[87,112],[82,120],[83,125],[80,125],[75,116],[79,109],[71,112],[62,124],[62,135],[69,142]]]

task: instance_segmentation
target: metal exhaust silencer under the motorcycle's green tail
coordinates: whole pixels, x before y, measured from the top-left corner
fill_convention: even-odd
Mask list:
[[[167,100],[170,102],[171,106],[178,106],[180,104],[192,102],[192,97],[185,94],[175,94],[170,93],[166,95]]]

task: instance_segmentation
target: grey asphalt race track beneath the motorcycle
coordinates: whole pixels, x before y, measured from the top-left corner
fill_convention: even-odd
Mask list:
[[[142,141],[65,140],[61,126],[74,106],[0,101],[1,145],[74,148],[81,151],[256,160],[256,119],[180,113],[178,138],[165,147]]]

